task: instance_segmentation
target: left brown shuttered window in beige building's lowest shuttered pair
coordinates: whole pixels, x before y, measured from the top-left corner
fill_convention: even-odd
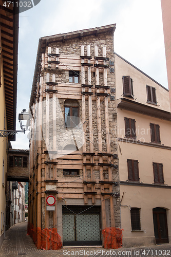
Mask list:
[[[128,180],[129,181],[139,181],[139,169],[138,160],[127,159],[128,164]]]

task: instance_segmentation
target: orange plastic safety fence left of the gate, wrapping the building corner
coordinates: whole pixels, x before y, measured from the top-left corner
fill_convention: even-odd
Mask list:
[[[33,228],[32,224],[28,224],[28,234],[39,249],[58,250],[62,248],[61,236],[57,233],[56,228]]]

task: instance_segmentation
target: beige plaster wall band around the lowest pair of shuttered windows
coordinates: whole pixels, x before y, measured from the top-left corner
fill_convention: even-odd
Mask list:
[[[119,145],[121,148],[121,152],[118,151],[121,181],[126,181],[128,179],[127,159],[133,159],[139,161],[140,182],[154,183],[153,162],[159,162],[163,163],[164,183],[171,186],[171,150],[125,142],[119,142]]]

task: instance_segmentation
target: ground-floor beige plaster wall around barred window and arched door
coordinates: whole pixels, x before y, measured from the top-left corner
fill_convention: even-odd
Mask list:
[[[148,188],[140,186],[120,185],[121,201],[121,227],[123,228],[124,246],[144,245],[148,241],[155,243],[153,226],[153,208],[165,208],[167,212],[168,235],[171,234],[169,197],[171,189]],[[130,221],[130,208],[140,208],[140,221],[142,231],[132,232]],[[135,238],[135,237],[141,237]],[[148,238],[148,239],[147,239]]]

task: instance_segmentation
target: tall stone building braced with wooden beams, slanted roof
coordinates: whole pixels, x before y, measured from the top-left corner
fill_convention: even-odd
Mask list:
[[[41,236],[46,229],[56,229],[64,246],[94,245],[102,244],[106,228],[121,226],[115,27],[39,41],[30,98],[28,200],[28,231],[37,248],[48,249]]]

